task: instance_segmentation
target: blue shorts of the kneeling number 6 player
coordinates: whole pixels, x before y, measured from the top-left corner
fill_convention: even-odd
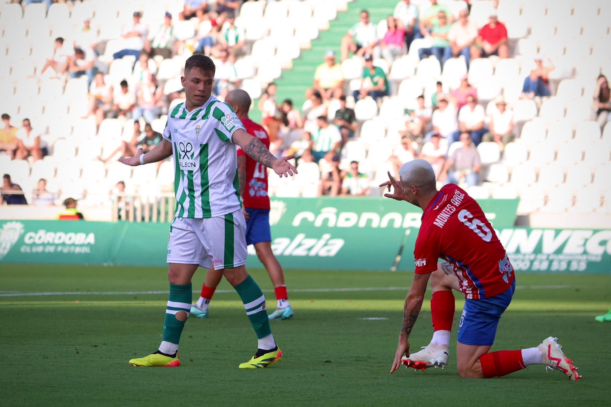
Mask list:
[[[458,324],[458,342],[465,345],[492,345],[499,320],[511,303],[516,279],[505,292],[481,300],[465,300]]]

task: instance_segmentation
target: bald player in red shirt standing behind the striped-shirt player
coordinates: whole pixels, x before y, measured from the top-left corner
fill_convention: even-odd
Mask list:
[[[244,124],[244,128],[246,128],[246,132],[257,137],[269,149],[269,135],[265,129],[248,118],[248,110],[251,107],[251,97],[248,93],[239,89],[232,90],[227,93],[225,102],[238,115],[238,118]],[[239,147],[237,148],[237,154],[240,196],[243,200],[244,218],[246,218],[246,244],[255,246],[257,256],[268,270],[276,292],[277,309],[269,315],[269,319],[288,319],[293,316],[293,308],[288,302],[284,272],[271,250],[267,168],[247,156]],[[197,303],[191,306],[191,315],[197,318],[208,317],[208,304],[221,279],[221,272],[216,272],[214,268],[208,270],[202,287],[202,294]]]

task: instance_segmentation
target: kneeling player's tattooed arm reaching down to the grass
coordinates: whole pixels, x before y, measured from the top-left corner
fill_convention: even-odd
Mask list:
[[[392,364],[390,373],[399,369],[403,355],[409,356],[409,334],[412,333],[414,324],[418,319],[418,314],[420,314],[422,301],[424,301],[426,284],[428,283],[430,276],[430,273],[414,274],[412,286],[409,287],[408,296],[405,298],[405,304],[403,307],[403,323],[401,323],[401,331],[399,333],[399,344],[397,345],[395,361]]]

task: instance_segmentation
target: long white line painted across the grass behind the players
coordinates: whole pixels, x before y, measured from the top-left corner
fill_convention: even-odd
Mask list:
[[[546,290],[567,289],[571,286],[516,286],[516,289]],[[365,292],[365,291],[407,291],[409,287],[361,287],[361,288],[306,288],[293,289],[290,292]],[[263,292],[274,292],[274,290],[262,290]],[[217,293],[235,292],[234,290],[216,290]],[[167,294],[167,291],[65,291],[65,292],[10,292],[0,294],[0,297],[39,297],[48,295],[144,295],[144,294]]]

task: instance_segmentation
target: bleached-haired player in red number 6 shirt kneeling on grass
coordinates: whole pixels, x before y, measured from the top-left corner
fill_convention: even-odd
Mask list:
[[[397,353],[390,373],[401,363],[414,369],[442,367],[448,363],[448,345],[454,319],[452,290],[465,297],[458,328],[456,361],[458,374],[468,378],[504,376],[532,364],[561,370],[579,380],[577,368],[560,350],[554,337],[538,347],[488,353],[503,311],[516,289],[513,267],[481,207],[458,185],[437,191],[435,172],[426,160],[413,160],[399,170],[400,181],[380,185],[394,188],[384,196],[408,201],[423,209],[422,225],[415,243],[414,280],[403,311]],[[437,259],[448,263],[437,264]],[[423,350],[409,353],[408,337],[418,318],[426,284],[431,279],[433,339]],[[406,355],[406,356],[403,356]]]

